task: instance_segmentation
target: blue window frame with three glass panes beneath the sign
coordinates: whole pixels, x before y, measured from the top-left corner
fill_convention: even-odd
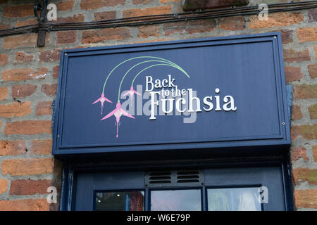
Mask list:
[[[288,191],[287,185],[285,185],[287,178],[281,164],[262,167],[205,167],[200,170],[204,177],[199,182],[189,182],[187,185],[182,184],[181,186],[164,183],[148,186],[144,182],[144,177],[147,176],[147,172],[144,170],[76,172],[73,183],[73,203],[70,203],[69,210],[102,210],[100,205],[97,207],[96,193],[118,194],[117,197],[121,198],[121,210],[136,210],[137,198],[129,197],[129,193],[135,193],[134,196],[139,197],[138,204],[141,204],[140,200],[142,200],[139,210],[142,207],[142,210],[146,211],[292,210],[292,201],[287,197]],[[185,170],[180,169],[180,171]],[[261,187],[266,189],[262,188],[263,192],[259,192]],[[124,201],[121,193],[125,195]],[[139,193],[142,193],[142,198]],[[154,203],[160,199],[156,198],[158,196],[154,197],[156,193],[165,193],[166,197],[169,196],[173,199],[161,198],[160,202]],[[258,202],[259,196],[264,197],[261,198],[263,201]],[[180,207],[178,203],[189,204]],[[111,203],[109,204],[111,205]],[[109,208],[109,204],[108,210],[118,210],[118,207]],[[104,207],[105,209],[106,207]]]

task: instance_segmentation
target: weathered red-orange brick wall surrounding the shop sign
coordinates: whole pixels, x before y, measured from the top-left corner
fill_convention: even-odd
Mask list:
[[[58,23],[182,13],[181,0],[50,1]],[[253,1],[251,1],[252,3]],[[278,2],[278,1],[277,1]],[[37,23],[32,4],[0,0],[0,29]],[[297,210],[317,209],[316,9],[139,27],[72,30],[0,37],[0,210],[56,210],[46,188],[60,187],[61,163],[51,155],[51,103],[61,49],[282,32],[287,84],[292,84],[292,175]],[[58,188],[58,195],[60,188]]]

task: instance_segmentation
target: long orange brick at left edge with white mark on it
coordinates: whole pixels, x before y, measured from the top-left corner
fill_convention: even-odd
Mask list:
[[[37,72],[31,68],[4,70],[1,79],[7,82],[23,81],[27,79],[42,79],[46,76],[47,68],[39,68]]]

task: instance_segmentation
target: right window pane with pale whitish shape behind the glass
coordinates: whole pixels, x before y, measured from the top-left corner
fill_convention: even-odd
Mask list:
[[[261,211],[259,188],[208,189],[209,211]]]

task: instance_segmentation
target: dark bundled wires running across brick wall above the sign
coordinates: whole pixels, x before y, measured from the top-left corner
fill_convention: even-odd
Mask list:
[[[268,4],[268,13],[299,11],[309,8],[316,8],[317,1],[302,1],[285,4]],[[63,31],[63,30],[89,30],[107,27],[131,27],[140,25],[154,25],[160,23],[175,23],[179,21],[201,20],[210,18],[223,18],[236,15],[257,15],[260,13],[259,6],[244,6],[233,8],[218,8],[209,11],[194,11],[188,13],[161,14],[161,15],[143,15],[131,18],[120,18],[114,20],[102,20],[83,23],[39,23],[16,27],[8,30],[0,30],[0,37],[25,34],[30,32],[39,32],[41,30]]]

